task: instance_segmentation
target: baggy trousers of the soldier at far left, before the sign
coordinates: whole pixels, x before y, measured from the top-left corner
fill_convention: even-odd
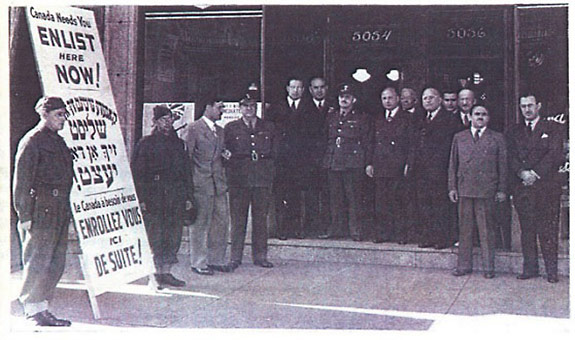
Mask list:
[[[22,287],[19,300],[27,316],[48,309],[66,265],[70,207],[67,196],[37,198],[29,229],[19,224]]]

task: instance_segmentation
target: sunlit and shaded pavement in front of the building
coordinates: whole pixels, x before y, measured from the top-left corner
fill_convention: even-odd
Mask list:
[[[51,311],[72,327],[31,327],[15,301],[21,272],[10,275],[8,334],[102,338],[101,332],[200,338],[233,334],[250,337],[348,338],[438,336],[442,334],[541,333],[572,337],[569,276],[548,283],[513,273],[494,279],[481,272],[454,277],[449,270],[370,263],[298,261],[274,258],[272,269],[249,261],[233,273],[200,276],[180,255],[176,277],[187,285],[154,291],[147,278],[97,297],[101,318],[92,316],[79,263],[70,256]],[[6,326],[6,325],[5,325]],[[168,331],[169,333],[165,333]],[[185,332],[184,332],[185,331]],[[192,333],[190,333],[192,331]]]

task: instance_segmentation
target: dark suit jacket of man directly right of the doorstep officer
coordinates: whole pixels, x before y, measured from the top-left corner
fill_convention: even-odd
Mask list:
[[[390,119],[385,118],[385,112],[376,115],[367,155],[374,177],[403,177],[413,134],[409,115],[401,109]]]

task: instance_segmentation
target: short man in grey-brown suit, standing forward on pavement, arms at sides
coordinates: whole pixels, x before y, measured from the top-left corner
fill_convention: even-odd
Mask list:
[[[503,134],[487,128],[489,111],[476,105],[471,128],[453,137],[447,187],[459,213],[459,251],[454,276],[473,270],[473,230],[477,225],[484,277],[495,276],[495,202],[507,197],[507,147]]]

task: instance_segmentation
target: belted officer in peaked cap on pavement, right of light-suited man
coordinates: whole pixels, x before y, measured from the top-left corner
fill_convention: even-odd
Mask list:
[[[256,266],[271,268],[267,260],[267,213],[272,198],[277,137],[274,124],[256,116],[256,102],[240,101],[242,118],[225,127],[226,176],[232,219],[230,266],[242,263],[248,208],[252,207],[252,260]]]

